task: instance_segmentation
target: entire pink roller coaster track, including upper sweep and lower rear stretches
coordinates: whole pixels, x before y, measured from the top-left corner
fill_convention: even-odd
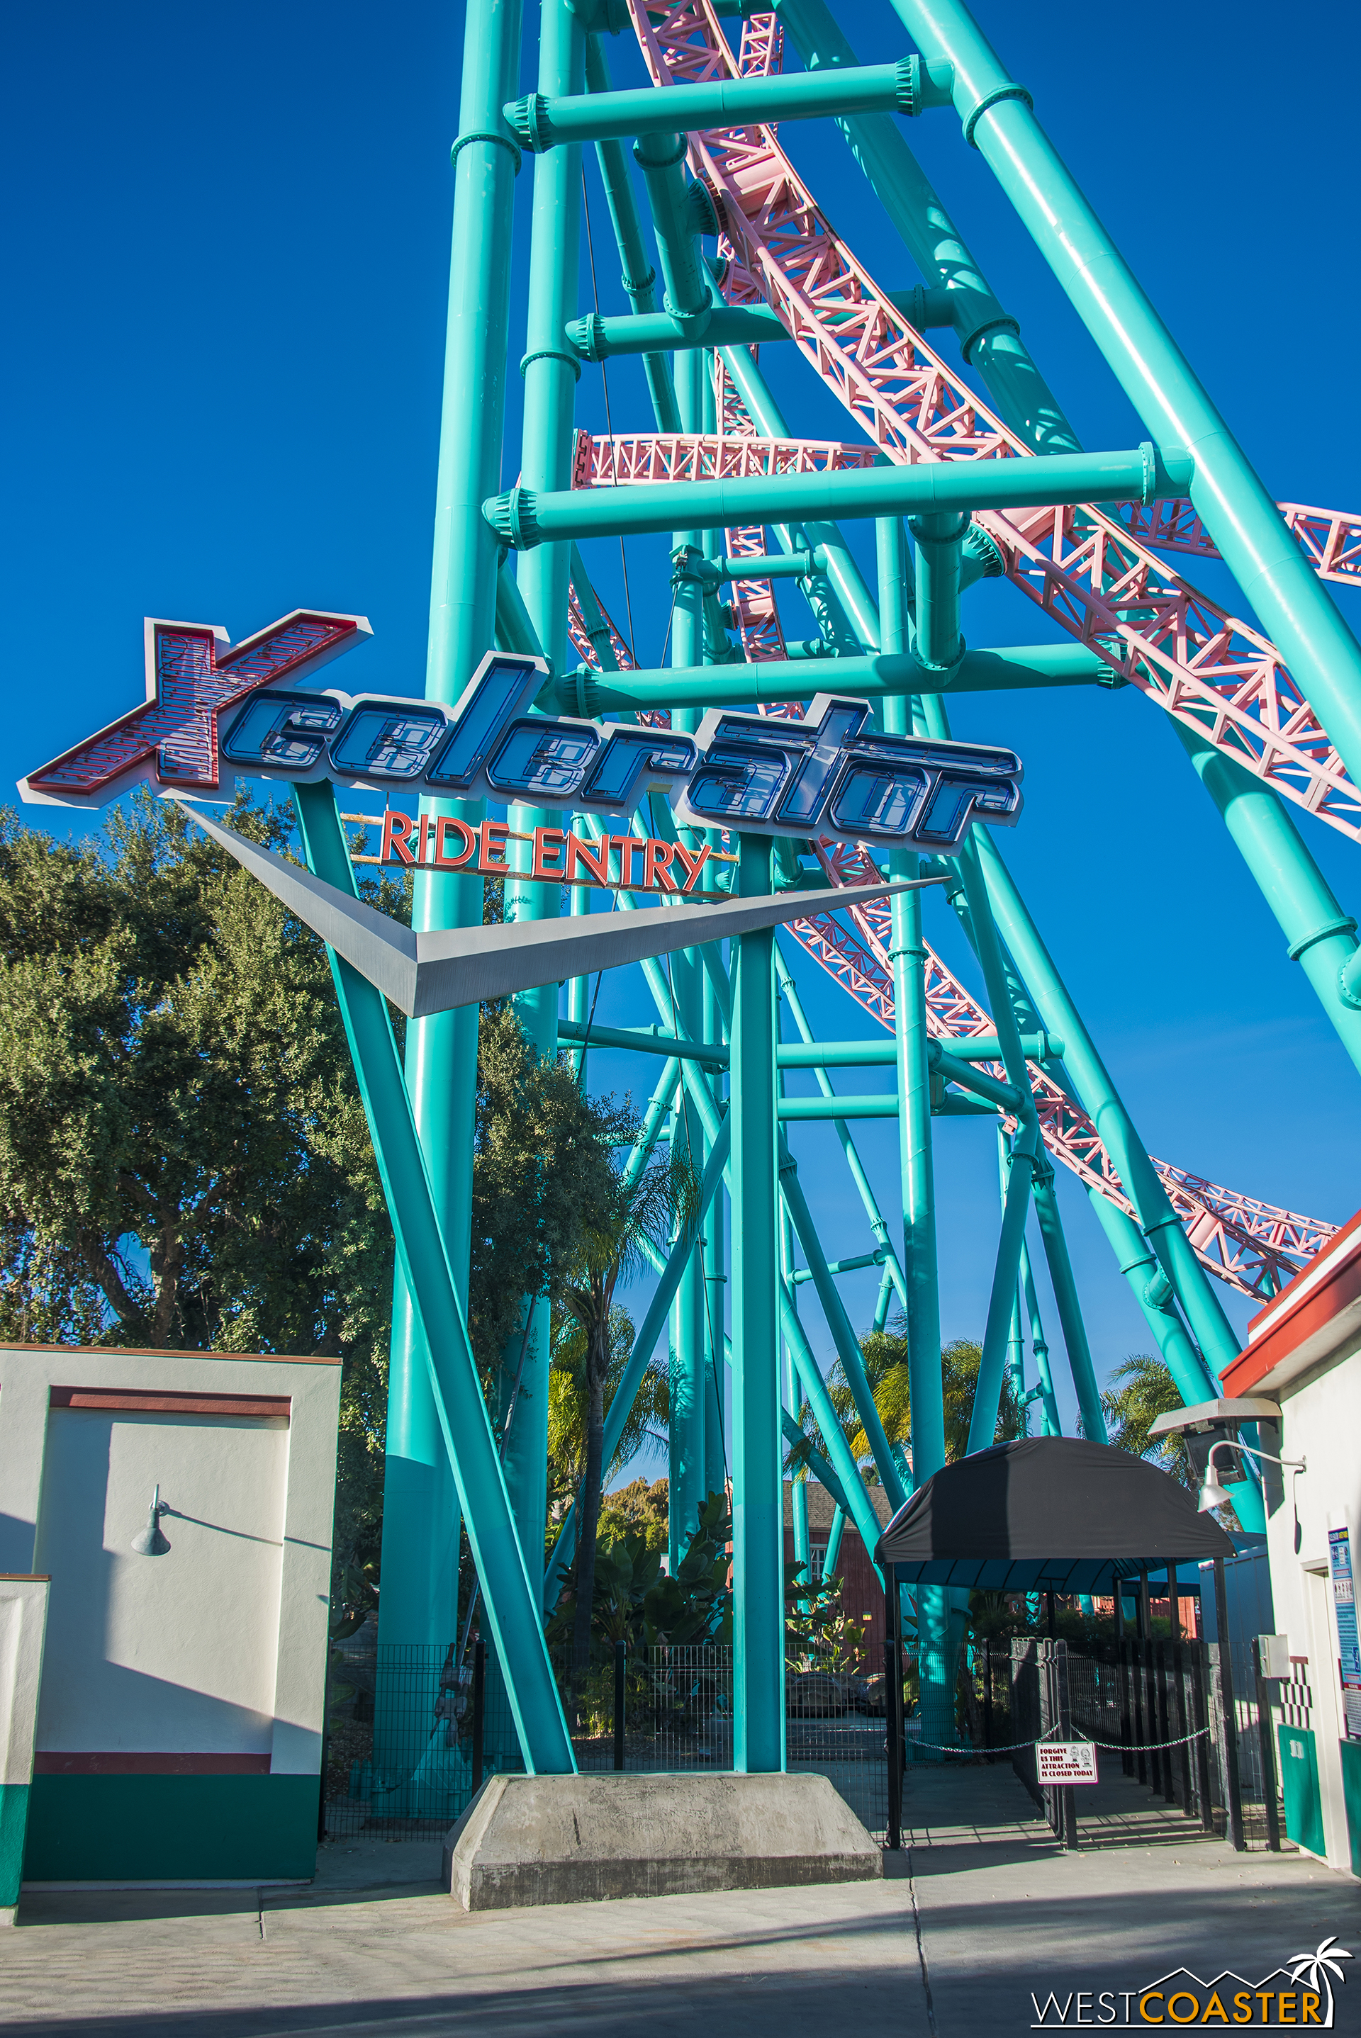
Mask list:
[[[744,22],[733,57],[707,0],[646,8],[630,0],[654,84],[754,75],[778,67],[774,16]],[[927,346],[833,232],[778,147],[772,128],[689,137],[695,175],[709,183],[725,228],[729,302],[770,304],[827,387],[870,440],[762,440],[723,377],[721,432],[615,434],[577,442],[575,487],[727,475],[809,473],[892,461],[1027,459],[972,389]],[[1361,579],[1361,520],[1284,503],[1282,514],[1316,571]],[[1343,834],[1361,834],[1361,799],[1275,648],[1163,565],[1149,544],[1218,556],[1190,503],[1135,503],[1108,518],[1094,507],[988,512],[976,518],[1002,548],[1006,573],[1064,630],[1277,793]],[[731,556],[764,550],[764,532],[727,532]],[[733,585],[736,624],[750,660],[778,658],[784,640],[768,581]],[[573,597],[573,644],[599,664]],[[621,671],[634,664],[611,624]],[[776,709],[778,711],[778,709]],[[795,703],[782,709],[799,713]],[[648,717],[648,719],[662,719]],[[821,846],[833,884],[866,874],[858,850]],[[791,927],[878,1025],[892,1029],[888,911],[854,907]],[[927,950],[927,1023],[937,1037],[992,1033],[982,1005]],[[1000,1076],[1000,1066],[996,1068]],[[1037,1064],[1031,1088],[1047,1149],[1084,1188],[1133,1215],[1096,1127]],[[1155,1162],[1200,1262],[1241,1294],[1273,1294],[1335,1225],[1275,1209],[1202,1176]]]

